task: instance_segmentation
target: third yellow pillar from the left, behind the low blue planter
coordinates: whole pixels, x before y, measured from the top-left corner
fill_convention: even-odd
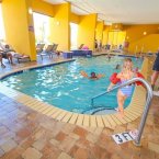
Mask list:
[[[80,16],[78,31],[78,46],[84,44],[90,49],[94,49],[96,14],[89,14]]]

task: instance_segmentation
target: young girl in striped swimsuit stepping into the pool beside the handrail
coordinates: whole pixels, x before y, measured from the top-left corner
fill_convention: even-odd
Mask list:
[[[116,78],[121,80],[120,84],[125,83],[126,81],[130,80],[134,78],[136,72],[133,71],[133,61],[130,58],[125,58],[124,64],[123,64],[123,69],[121,72],[117,73]],[[107,91],[110,91],[113,88],[113,83],[107,88]],[[124,116],[124,102],[125,100],[130,96],[133,93],[133,84],[126,86],[124,88],[118,89],[117,91],[117,103],[118,107],[116,111],[118,111],[121,117]]]

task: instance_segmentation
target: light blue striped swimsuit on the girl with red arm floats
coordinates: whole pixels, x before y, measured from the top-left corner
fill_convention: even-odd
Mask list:
[[[120,84],[123,84],[123,83],[125,83],[126,81],[127,81],[127,80],[123,80],[123,81],[120,82]],[[126,86],[126,87],[121,88],[120,90],[121,90],[121,92],[122,92],[124,95],[130,96],[132,93],[133,93],[133,88],[134,88],[134,84],[129,84],[129,86]]]

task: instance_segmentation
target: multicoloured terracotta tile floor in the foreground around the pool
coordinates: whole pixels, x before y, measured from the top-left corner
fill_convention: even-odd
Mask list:
[[[80,127],[49,118],[0,94],[0,158],[159,159],[158,103],[155,96],[143,147],[135,147],[130,141],[116,145],[111,135],[137,128],[140,118],[114,129]]]

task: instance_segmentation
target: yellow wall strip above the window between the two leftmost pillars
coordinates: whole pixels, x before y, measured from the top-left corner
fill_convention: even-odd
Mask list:
[[[32,0],[32,9],[34,12],[54,16],[54,5],[42,0]]]

